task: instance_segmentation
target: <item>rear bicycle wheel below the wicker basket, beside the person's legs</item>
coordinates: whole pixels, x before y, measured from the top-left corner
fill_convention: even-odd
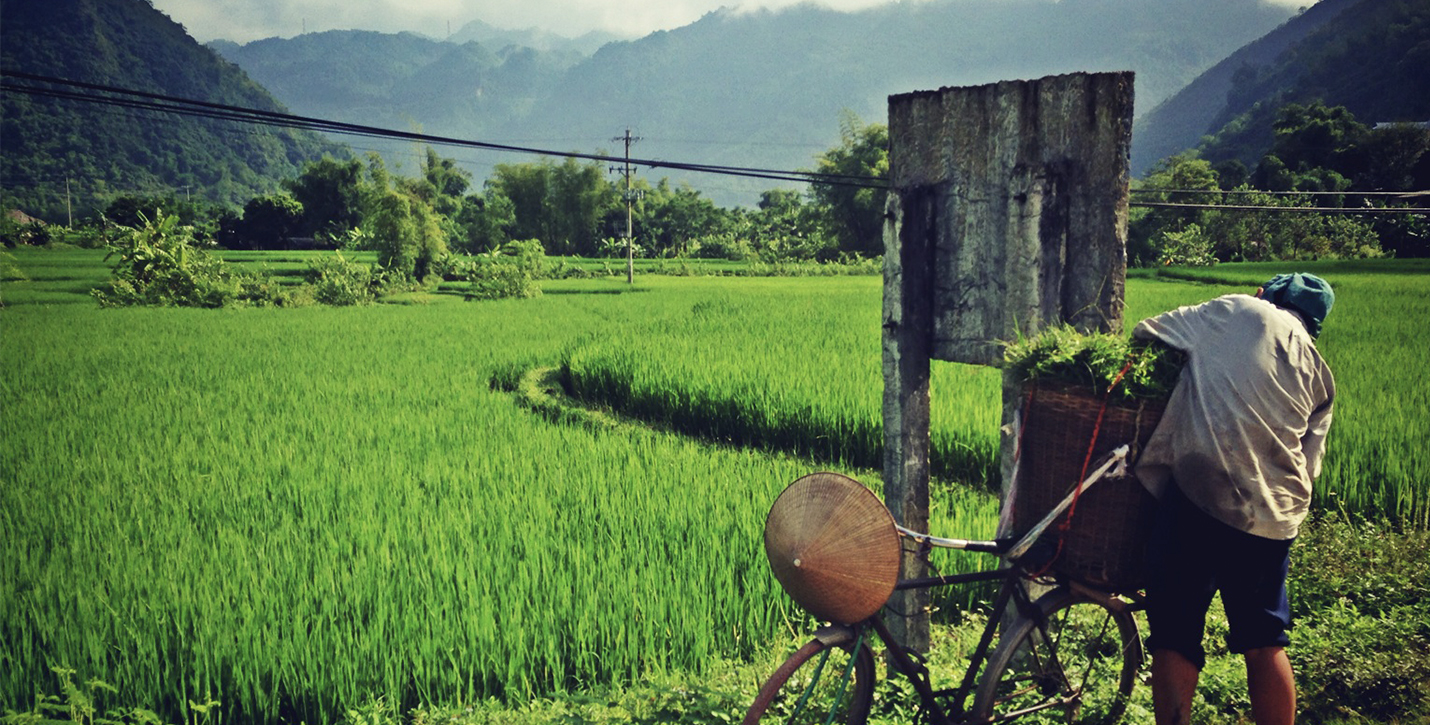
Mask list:
[[[1000,638],[978,681],[972,722],[1111,725],[1127,711],[1141,641],[1131,612],[1055,589]]]

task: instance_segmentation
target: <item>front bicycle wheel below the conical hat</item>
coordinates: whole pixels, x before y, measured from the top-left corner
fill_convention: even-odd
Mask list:
[[[864,725],[874,702],[874,654],[865,639],[825,645],[811,639],[755,695],[744,725],[791,722]]]

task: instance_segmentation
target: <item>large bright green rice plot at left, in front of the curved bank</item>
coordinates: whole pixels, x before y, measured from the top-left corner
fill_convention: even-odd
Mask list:
[[[49,665],[176,719],[522,699],[699,669],[799,619],[794,459],[555,426],[489,386],[621,296],[0,319],[0,706]]]

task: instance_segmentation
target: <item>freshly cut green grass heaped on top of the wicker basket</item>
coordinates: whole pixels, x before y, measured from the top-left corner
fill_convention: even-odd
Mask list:
[[[1004,366],[1020,380],[1104,390],[1113,398],[1167,398],[1185,355],[1123,335],[1087,335],[1068,325],[1007,345]]]

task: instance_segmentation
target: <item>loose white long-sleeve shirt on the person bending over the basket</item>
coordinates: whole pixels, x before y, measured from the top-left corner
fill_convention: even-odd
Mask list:
[[[1187,353],[1137,475],[1154,495],[1175,480],[1217,521],[1290,539],[1321,472],[1336,382],[1296,313],[1227,295],[1143,320],[1133,336]]]

